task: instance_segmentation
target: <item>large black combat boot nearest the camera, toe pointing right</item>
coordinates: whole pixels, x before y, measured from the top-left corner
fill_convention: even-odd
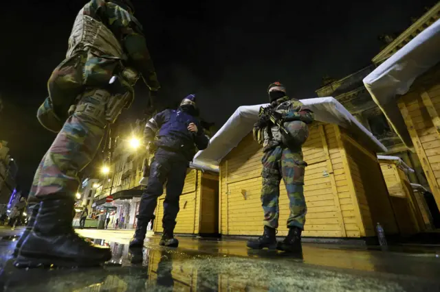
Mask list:
[[[89,267],[111,259],[108,247],[89,243],[72,227],[73,197],[43,199],[34,228],[23,241],[16,267]]]

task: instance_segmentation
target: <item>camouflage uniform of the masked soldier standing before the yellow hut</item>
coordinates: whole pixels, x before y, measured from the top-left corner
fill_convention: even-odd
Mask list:
[[[287,96],[272,103],[276,112],[284,115],[285,121],[300,120],[305,123],[314,121],[314,114],[298,99],[289,99]],[[280,195],[280,181],[283,178],[287,195],[289,196],[290,214],[287,227],[296,226],[303,229],[307,206],[305,204],[303,184],[304,171],[307,163],[303,160],[301,148],[289,149],[281,143],[281,134],[278,126],[269,125],[263,129],[254,127],[254,139],[263,145],[263,188],[261,202],[264,211],[263,224],[271,228],[278,228],[278,197]]]

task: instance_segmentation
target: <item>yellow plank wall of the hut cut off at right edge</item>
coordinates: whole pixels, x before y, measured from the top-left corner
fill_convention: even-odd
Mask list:
[[[398,100],[414,149],[440,208],[440,65],[419,77]]]

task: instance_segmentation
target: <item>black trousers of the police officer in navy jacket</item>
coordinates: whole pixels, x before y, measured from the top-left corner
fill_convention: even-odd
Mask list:
[[[140,200],[137,226],[146,228],[153,219],[153,212],[157,206],[157,198],[164,193],[166,182],[166,197],[164,200],[164,218],[162,227],[164,231],[173,231],[179,212],[179,197],[184,189],[188,161],[181,155],[157,149],[150,165],[150,175],[146,190]]]

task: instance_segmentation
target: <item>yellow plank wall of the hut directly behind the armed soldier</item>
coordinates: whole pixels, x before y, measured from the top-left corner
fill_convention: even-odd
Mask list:
[[[377,174],[382,175],[380,167],[377,159],[365,158],[354,150],[347,151],[342,136],[346,134],[336,125],[314,123],[303,145],[304,159],[308,164],[304,186],[307,202],[304,236],[360,237],[375,234],[364,191],[367,187],[363,185],[366,178],[363,171],[362,175],[359,174],[359,168],[376,166],[373,177],[377,178]],[[373,151],[370,152],[370,156],[375,157]],[[219,186],[221,234],[261,234],[262,155],[261,147],[252,140],[252,134],[248,134],[222,160]],[[362,165],[359,159],[370,159],[371,162]],[[356,183],[355,180],[360,182]],[[388,195],[384,183],[376,183],[376,186],[369,188],[369,191],[379,192],[382,196]],[[283,182],[279,207],[278,234],[286,235],[289,199]],[[391,225],[388,232],[393,232]]]

